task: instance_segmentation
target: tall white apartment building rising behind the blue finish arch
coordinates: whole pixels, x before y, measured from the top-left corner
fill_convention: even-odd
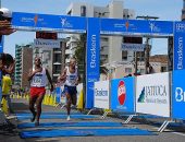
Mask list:
[[[97,7],[84,2],[73,2],[66,9],[67,15],[88,16],[88,17],[108,17],[108,19],[135,19],[135,11],[124,9],[123,1],[111,1],[107,7]],[[77,35],[70,35],[66,44],[66,62],[74,55]],[[131,62],[134,57],[133,51],[122,51],[121,45],[124,43],[123,36],[101,36],[100,60],[101,63],[111,63],[115,61]],[[126,54],[126,55],[125,55]],[[126,58],[123,58],[126,56]]]

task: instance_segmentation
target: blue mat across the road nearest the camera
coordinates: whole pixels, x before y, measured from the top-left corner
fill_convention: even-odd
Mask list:
[[[100,137],[100,135],[156,135],[140,129],[54,129],[22,131],[21,138],[55,138],[55,137]]]

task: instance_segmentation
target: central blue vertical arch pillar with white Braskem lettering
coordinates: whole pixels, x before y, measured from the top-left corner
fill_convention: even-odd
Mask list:
[[[100,67],[100,22],[88,19],[86,49],[86,108],[94,106],[94,82],[99,81]]]

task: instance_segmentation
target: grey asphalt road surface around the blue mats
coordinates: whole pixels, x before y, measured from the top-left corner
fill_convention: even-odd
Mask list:
[[[28,113],[28,103],[25,99],[14,99],[13,108],[15,113]],[[53,111],[60,113],[65,111],[65,109],[60,109],[59,107],[51,106],[42,106],[42,111]],[[73,110],[76,111],[76,110]],[[12,117],[12,118],[11,118]],[[29,120],[15,120],[13,116],[11,116],[10,120],[14,125],[29,122]],[[116,118],[109,116],[106,119],[87,119],[88,121],[110,121],[110,122],[123,122],[126,117]],[[86,120],[86,121],[87,121]],[[41,119],[40,122],[65,122],[66,119]],[[84,121],[82,119],[72,119],[71,121]],[[185,126],[171,126],[165,129],[164,132],[158,132],[158,128],[160,127],[156,122],[162,122],[163,119],[143,119],[135,118],[127,125],[123,125],[123,128],[139,128],[141,130],[152,131],[153,135],[109,135],[109,137],[59,137],[59,138],[32,138],[32,139],[21,139],[18,132],[21,129],[10,129],[2,130],[0,129],[0,142],[184,142],[185,141]],[[90,129],[112,129],[112,127],[90,127]],[[28,128],[23,130],[37,130],[44,128]],[[52,129],[72,129],[71,127],[65,128],[45,128],[47,130]],[[85,127],[75,127],[73,129],[87,129]]]

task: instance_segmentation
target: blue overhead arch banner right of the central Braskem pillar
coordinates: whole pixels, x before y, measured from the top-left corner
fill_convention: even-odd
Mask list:
[[[101,34],[170,36],[173,22],[102,19]]]

